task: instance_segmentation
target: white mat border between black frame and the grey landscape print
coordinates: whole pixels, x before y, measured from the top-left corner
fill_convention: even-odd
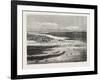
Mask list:
[[[32,11],[56,11],[56,12],[76,12],[76,13],[89,13],[89,24],[87,25],[87,63],[84,62],[78,62],[78,63],[66,63],[67,65],[79,65],[74,67],[67,67],[65,63],[63,64],[63,67],[44,67],[44,66],[50,66],[48,65],[34,65],[33,69],[27,69],[30,66],[25,66],[26,68],[22,68],[22,10],[32,10]],[[93,71],[94,70],[94,10],[92,9],[76,9],[76,8],[58,8],[58,7],[43,7],[43,6],[23,6],[18,5],[17,6],[17,49],[18,49],[18,57],[17,57],[17,74],[18,75],[24,75],[24,74],[44,74],[44,73],[59,73],[59,72],[78,72],[78,71]],[[24,25],[24,30],[26,30],[26,26]],[[23,32],[25,34],[25,31]],[[24,35],[25,36],[25,35]],[[23,39],[26,40],[26,39]],[[25,41],[23,41],[25,43]],[[24,44],[23,43],[23,44]],[[26,47],[24,47],[24,51],[26,50]],[[25,52],[23,52],[25,53]],[[24,56],[25,57],[25,56]],[[23,61],[26,62],[26,61]],[[62,65],[61,64],[61,65]],[[84,66],[85,64],[85,66]],[[86,65],[87,64],[87,65]],[[56,64],[56,66],[59,66],[60,64]]]

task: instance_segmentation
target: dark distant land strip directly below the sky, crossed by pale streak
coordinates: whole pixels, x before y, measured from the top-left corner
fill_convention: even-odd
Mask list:
[[[34,32],[31,32],[34,34]],[[44,41],[48,42],[49,40],[53,40],[52,37],[49,36],[43,36],[43,35],[33,35],[30,33],[27,33],[27,39],[28,40],[34,40],[38,38],[43,38]],[[61,37],[62,39],[65,38],[66,40],[81,40],[86,42],[87,39],[87,33],[86,32],[48,32],[48,33],[35,33],[35,34],[45,34],[45,35],[51,35],[56,37]],[[48,39],[48,40],[47,40]],[[36,40],[37,41],[37,40]]]

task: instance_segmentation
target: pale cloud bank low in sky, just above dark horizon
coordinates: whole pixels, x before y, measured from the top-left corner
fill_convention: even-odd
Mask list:
[[[84,26],[64,26],[58,23],[50,22],[33,22],[28,25],[27,30],[33,32],[71,32],[86,31]]]

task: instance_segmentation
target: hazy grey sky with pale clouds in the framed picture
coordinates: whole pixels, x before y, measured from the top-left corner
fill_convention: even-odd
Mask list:
[[[50,13],[49,13],[50,14]],[[27,15],[27,30],[33,32],[86,31],[86,16],[69,15]]]

